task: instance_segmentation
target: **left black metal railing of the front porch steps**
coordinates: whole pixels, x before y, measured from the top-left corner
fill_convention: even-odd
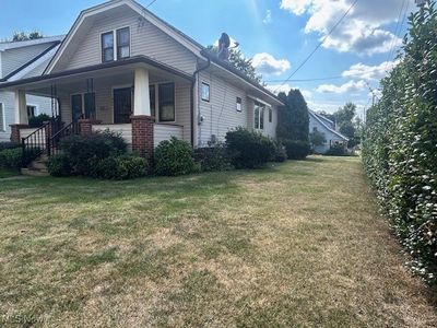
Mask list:
[[[55,133],[62,130],[62,121],[60,117],[54,117],[49,121],[28,134],[22,138],[21,144],[23,150],[22,166],[26,167],[32,161],[49,152],[50,139]]]

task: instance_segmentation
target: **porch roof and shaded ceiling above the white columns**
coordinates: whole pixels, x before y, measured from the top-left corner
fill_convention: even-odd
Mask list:
[[[126,60],[3,83],[0,84],[0,90],[25,90],[27,94],[50,96],[52,85],[56,85],[58,92],[62,90],[81,90],[86,89],[87,79],[94,80],[95,87],[99,81],[107,81],[108,79],[114,80],[117,85],[133,85],[134,70],[139,67],[144,67],[149,70],[151,83],[164,81],[187,82],[193,79],[191,75],[152,58],[138,56]]]

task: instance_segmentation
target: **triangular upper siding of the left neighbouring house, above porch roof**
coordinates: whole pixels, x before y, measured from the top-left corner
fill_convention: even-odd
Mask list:
[[[26,62],[40,55],[48,49],[52,44],[46,43],[42,45],[9,49],[2,52],[2,74],[3,77],[19,69]]]

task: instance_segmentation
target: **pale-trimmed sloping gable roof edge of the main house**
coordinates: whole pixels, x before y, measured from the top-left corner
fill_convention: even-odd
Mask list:
[[[73,23],[72,27],[70,28],[69,33],[67,34],[66,38],[63,39],[62,44],[60,45],[59,49],[48,63],[47,68],[44,70],[43,74],[50,74],[52,69],[55,68],[57,61],[59,58],[62,56],[63,51],[68,47],[68,44],[71,42],[72,37],[74,36],[75,32],[79,30],[81,24],[87,19],[91,17],[95,14],[98,14],[101,12],[104,12],[109,9],[114,9],[120,5],[127,5],[128,8],[134,10],[138,12],[142,17],[145,17],[149,20],[153,25],[158,27],[161,31],[173,37],[176,42],[181,44],[184,47],[186,47],[188,50],[190,50],[192,54],[194,54],[198,58],[206,58],[208,60],[213,61],[216,66],[218,66],[221,69],[227,71],[228,73],[233,75],[237,75],[239,79],[243,79],[246,83],[250,84],[250,86],[258,89],[261,91],[263,94],[273,97],[279,104],[283,105],[281,99],[257,83],[256,81],[249,79],[245,73],[241,71],[237,70],[234,68],[232,65],[228,62],[222,61],[217,58],[217,56],[211,54],[208,51],[208,49],[196,42],[193,38],[189,37],[187,34],[184,32],[179,31],[178,28],[174,27],[173,25],[168,24],[164,20],[160,19],[157,15],[149,11],[146,8],[141,5],[134,0],[110,0],[105,3],[88,8],[86,10],[81,11],[79,14],[78,19]]]

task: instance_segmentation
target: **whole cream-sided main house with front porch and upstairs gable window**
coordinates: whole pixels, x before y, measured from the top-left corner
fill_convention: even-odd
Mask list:
[[[82,11],[40,75],[0,90],[15,92],[15,124],[25,125],[23,93],[50,96],[54,86],[66,125],[121,132],[133,150],[146,153],[172,136],[204,147],[239,126],[275,138],[283,105],[133,0]]]

